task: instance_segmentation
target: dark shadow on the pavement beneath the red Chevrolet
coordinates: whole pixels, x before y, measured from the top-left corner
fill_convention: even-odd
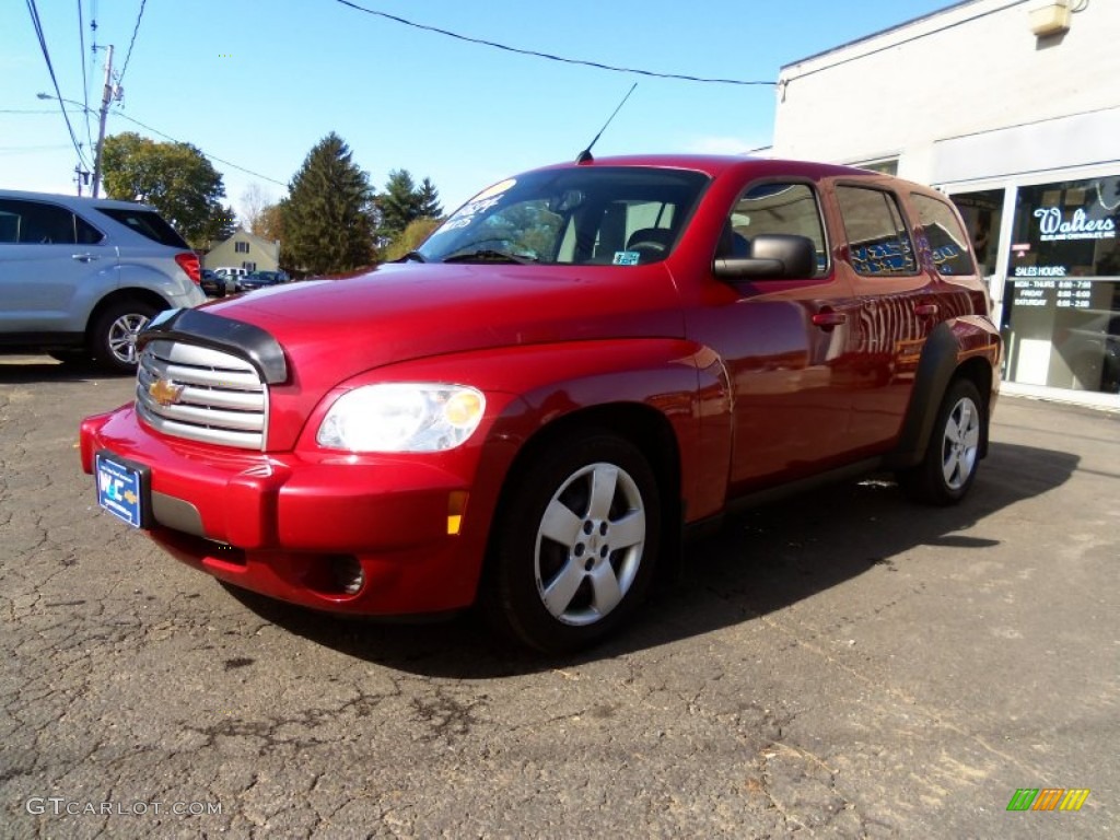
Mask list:
[[[983,552],[999,544],[961,534],[986,516],[1067,482],[1077,456],[992,442],[969,497],[955,507],[907,502],[871,477],[753,510],[716,535],[689,543],[672,591],[645,605],[616,637],[578,656],[514,650],[473,613],[430,624],[386,624],[314,613],[252,592],[230,591],[296,635],[356,659],[410,673],[488,679],[548,671],[656,647],[750,622],[921,545]]]

